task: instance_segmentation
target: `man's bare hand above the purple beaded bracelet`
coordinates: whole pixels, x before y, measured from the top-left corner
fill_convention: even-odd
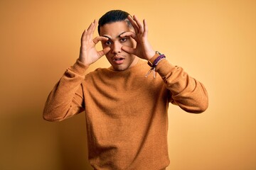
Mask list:
[[[133,32],[127,32],[120,35],[121,37],[130,36],[132,37],[136,42],[137,46],[135,48],[123,46],[122,50],[125,52],[128,52],[133,55],[137,55],[138,57],[150,60],[155,55],[155,51],[149,44],[149,41],[147,39],[148,37],[148,28],[146,25],[146,21],[143,20],[143,26],[142,23],[138,20],[136,16],[132,18],[132,16],[128,16],[129,21],[132,23],[132,26],[134,27],[135,33]]]

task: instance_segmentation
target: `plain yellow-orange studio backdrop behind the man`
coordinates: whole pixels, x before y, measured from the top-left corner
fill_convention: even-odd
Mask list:
[[[42,111],[78,58],[82,31],[117,8],[146,18],[154,49],[208,89],[205,113],[170,106],[168,169],[255,170],[256,1],[249,0],[1,0],[0,169],[91,169],[85,114],[48,123]],[[108,66],[102,57],[89,71]]]

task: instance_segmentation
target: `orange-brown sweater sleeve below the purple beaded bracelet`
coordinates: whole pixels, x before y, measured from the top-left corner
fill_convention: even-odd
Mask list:
[[[156,72],[164,80],[166,88],[171,92],[171,103],[189,113],[202,113],[208,108],[208,94],[205,86],[190,77],[181,67],[162,60]]]

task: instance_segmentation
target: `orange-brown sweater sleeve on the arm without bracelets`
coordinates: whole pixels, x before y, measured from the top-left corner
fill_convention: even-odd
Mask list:
[[[45,120],[60,121],[84,111],[81,84],[85,79],[86,69],[87,66],[77,60],[65,71],[47,98],[43,109]]]

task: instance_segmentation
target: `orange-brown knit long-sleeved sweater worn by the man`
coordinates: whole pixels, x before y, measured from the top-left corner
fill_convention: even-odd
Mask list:
[[[162,60],[152,74],[146,61],[122,72],[77,61],[50,92],[43,118],[60,121],[85,111],[90,164],[101,169],[159,170],[169,165],[168,106],[201,113],[206,89],[181,67]]]

